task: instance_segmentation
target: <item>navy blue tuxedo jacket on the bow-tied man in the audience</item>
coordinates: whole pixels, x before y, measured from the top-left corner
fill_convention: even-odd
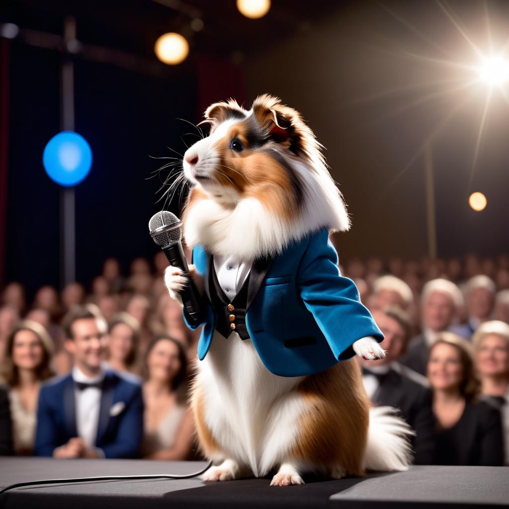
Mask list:
[[[37,408],[36,456],[52,456],[53,450],[77,437],[72,375],[47,382],[39,393]],[[118,402],[124,409],[111,416]],[[139,384],[107,371],[101,395],[96,447],[106,458],[137,458],[143,435],[143,399]]]

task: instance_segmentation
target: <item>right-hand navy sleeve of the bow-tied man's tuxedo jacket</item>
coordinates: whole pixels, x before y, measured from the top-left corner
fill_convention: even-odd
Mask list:
[[[143,436],[142,387],[136,385],[114,442],[101,447],[106,458],[138,458]]]

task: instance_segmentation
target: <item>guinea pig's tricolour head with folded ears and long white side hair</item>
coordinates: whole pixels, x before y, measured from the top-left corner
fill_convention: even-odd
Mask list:
[[[207,200],[245,217],[249,205],[251,215],[263,215],[263,228],[271,222],[277,230],[271,236],[283,243],[319,227],[348,229],[321,145],[297,110],[264,94],[250,110],[233,99],[212,104],[204,122],[209,135],[183,158],[184,174],[194,184],[186,209]]]

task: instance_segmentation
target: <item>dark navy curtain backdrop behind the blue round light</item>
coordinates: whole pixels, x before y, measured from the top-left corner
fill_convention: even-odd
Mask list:
[[[75,130],[89,142],[93,165],[76,187],[76,276],[88,285],[108,256],[126,270],[156,246],[148,221],[162,207],[151,172],[197,138],[195,64],[152,77],[76,60]],[[32,296],[59,287],[60,188],[44,172],[42,153],[60,130],[60,55],[21,44],[10,48],[9,183],[6,281]],[[181,139],[183,136],[183,140]],[[161,177],[167,174],[161,174]],[[178,213],[177,204],[172,207]]]

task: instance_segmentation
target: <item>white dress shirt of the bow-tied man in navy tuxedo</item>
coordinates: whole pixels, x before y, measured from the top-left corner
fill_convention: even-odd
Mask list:
[[[100,373],[90,378],[85,375],[78,366],[72,369],[72,378],[75,382],[97,383],[104,379],[105,370],[101,367]],[[99,411],[101,408],[101,389],[98,387],[86,387],[74,389],[74,401],[76,408],[76,430],[78,437],[83,439],[86,447],[95,449],[97,427],[99,425]]]

